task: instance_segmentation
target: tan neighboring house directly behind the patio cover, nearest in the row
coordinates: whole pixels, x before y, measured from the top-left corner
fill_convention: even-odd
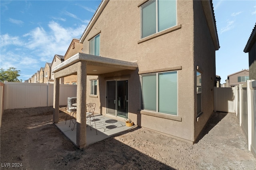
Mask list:
[[[66,51],[66,54],[64,55],[64,61],[66,61],[76,53],[82,53],[82,52],[83,52],[83,44],[79,42],[79,39],[73,38],[72,42],[68,47],[68,50]],[[70,75],[70,76],[64,77],[64,84],[76,84],[76,83],[77,83],[76,75]]]

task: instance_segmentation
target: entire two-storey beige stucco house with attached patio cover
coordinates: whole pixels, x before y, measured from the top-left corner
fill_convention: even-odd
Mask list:
[[[220,46],[211,0],[103,0],[80,43],[83,53],[52,69],[54,123],[60,78],[77,75],[78,147],[86,145],[90,102],[96,113],[196,142],[214,111]]]

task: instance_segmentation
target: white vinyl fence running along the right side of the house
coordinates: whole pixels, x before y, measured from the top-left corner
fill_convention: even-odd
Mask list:
[[[236,87],[214,87],[214,111],[233,112],[256,158],[256,81]]]

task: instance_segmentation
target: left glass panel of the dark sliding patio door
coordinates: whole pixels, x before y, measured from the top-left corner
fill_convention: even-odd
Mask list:
[[[116,81],[107,81],[107,114],[116,116]]]

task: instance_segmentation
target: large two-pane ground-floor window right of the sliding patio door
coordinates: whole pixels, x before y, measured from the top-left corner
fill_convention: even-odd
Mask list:
[[[141,75],[142,110],[177,115],[177,71]]]

